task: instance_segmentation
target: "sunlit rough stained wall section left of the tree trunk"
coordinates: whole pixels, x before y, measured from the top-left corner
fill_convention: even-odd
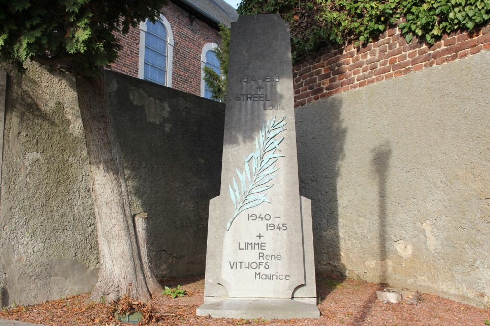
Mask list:
[[[7,70],[0,305],[88,291],[98,250],[74,78]],[[3,69],[2,69],[3,68]]]

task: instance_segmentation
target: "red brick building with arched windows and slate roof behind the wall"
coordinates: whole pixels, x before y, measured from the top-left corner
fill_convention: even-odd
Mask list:
[[[169,0],[160,18],[142,22],[127,35],[112,70],[161,85],[210,97],[202,80],[202,67],[219,70],[212,51],[220,45],[219,24],[238,19],[223,0]]]

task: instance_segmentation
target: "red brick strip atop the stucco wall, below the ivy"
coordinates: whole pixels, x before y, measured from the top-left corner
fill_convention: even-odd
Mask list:
[[[470,33],[445,35],[430,46],[415,37],[407,44],[395,27],[365,47],[328,47],[317,57],[294,65],[294,104],[302,106],[333,94],[465,58],[485,49],[490,49],[490,25]]]

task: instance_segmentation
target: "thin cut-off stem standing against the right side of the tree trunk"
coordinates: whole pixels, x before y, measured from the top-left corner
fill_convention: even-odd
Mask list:
[[[148,215],[147,213],[138,213],[134,217],[134,227],[136,230],[136,239],[138,239],[138,247],[140,249],[141,262],[143,264],[143,272],[145,273],[145,279],[147,281],[148,289],[152,296],[160,294],[162,286],[155,278],[155,275],[151,271],[150,261],[148,257],[147,246],[147,225]]]

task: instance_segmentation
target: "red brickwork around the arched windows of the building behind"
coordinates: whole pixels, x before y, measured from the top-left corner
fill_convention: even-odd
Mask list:
[[[201,52],[205,43],[221,44],[218,30],[196,18],[173,2],[162,8],[170,22],[174,39],[172,88],[201,95]],[[138,77],[140,30],[132,28],[127,35],[117,34],[123,45],[112,70]]]

